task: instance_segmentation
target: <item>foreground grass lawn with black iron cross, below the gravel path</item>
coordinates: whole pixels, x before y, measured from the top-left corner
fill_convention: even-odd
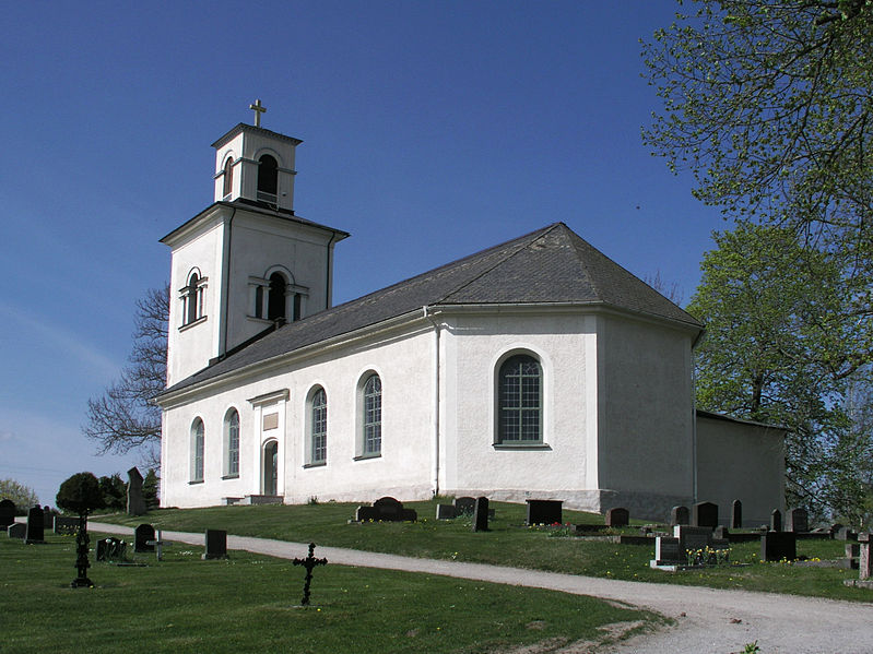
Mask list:
[[[330,563],[314,572],[304,608],[304,573],[292,561],[237,551],[203,561],[191,546],[161,562],[133,555],[144,567],[96,563],[92,552],[96,587],[73,590],[74,539],[46,542],[0,539],[3,651],[487,653],[662,623],[578,595]]]

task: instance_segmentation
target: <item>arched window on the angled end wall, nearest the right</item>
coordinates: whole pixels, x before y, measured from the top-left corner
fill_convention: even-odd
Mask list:
[[[497,442],[509,444],[543,441],[543,369],[526,354],[509,357],[497,379]]]

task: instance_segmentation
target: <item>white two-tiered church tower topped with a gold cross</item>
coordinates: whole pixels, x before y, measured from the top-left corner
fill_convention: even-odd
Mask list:
[[[239,123],[215,141],[214,202],[161,239],[172,249],[167,385],[266,331],[331,306],[345,231],[294,213],[300,140]]]

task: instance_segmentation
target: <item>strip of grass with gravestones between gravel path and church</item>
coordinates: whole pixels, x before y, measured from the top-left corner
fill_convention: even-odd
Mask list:
[[[135,526],[146,521],[156,528],[204,532],[224,528],[228,534],[259,536],[296,543],[347,547],[402,556],[450,559],[473,563],[510,566],[550,572],[566,572],[609,579],[656,583],[679,583],[716,588],[743,588],[770,593],[791,593],[873,601],[873,591],[847,587],[843,580],[858,579],[857,570],[809,568],[788,562],[762,563],[760,545],[731,544],[730,559],[743,567],[724,566],[664,572],[651,570],[654,539],[642,545],[618,545],[602,538],[606,535],[639,535],[640,521],[632,525],[592,532],[589,538],[571,535],[566,526],[524,526],[523,504],[491,502],[495,516],[487,532],[473,533],[471,518],[436,520],[437,503],[404,502],[415,509],[418,522],[349,523],[355,504],[325,502],[303,506],[216,507],[210,509],[162,509],[140,518],[116,514],[95,516],[95,521]],[[564,510],[564,522],[603,525],[602,515]],[[665,527],[664,527],[665,528]],[[798,556],[809,559],[839,559],[842,540],[798,540]]]

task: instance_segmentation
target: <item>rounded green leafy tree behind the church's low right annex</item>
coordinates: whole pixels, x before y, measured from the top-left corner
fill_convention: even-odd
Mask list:
[[[687,307],[707,325],[698,406],[784,426],[789,503],[858,518],[871,438],[852,429],[849,391],[869,344],[842,262],[786,228],[741,223],[715,240]]]

